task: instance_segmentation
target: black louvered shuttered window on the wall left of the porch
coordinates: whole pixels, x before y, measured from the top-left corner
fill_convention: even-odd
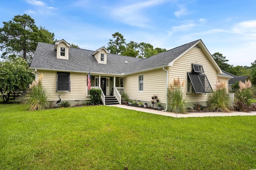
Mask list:
[[[56,92],[68,91],[70,92],[70,73],[57,72],[57,87]]]

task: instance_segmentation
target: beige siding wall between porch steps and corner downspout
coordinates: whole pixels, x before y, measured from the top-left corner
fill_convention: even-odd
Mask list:
[[[138,92],[138,75],[143,74],[143,92]],[[150,102],[151,96],[157,95],[160,103],[166,103],[166,72],[156,69],[124,78],[125,92],[129,100]]]

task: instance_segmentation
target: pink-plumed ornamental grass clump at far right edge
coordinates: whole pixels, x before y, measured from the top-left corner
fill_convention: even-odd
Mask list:
[[[244,83],[239,82],[239,90],[236,91],[235,109],[237,111],[252,111],[252,101],[255,98],[254,90],[251,88],[252,83],[246,80]]]

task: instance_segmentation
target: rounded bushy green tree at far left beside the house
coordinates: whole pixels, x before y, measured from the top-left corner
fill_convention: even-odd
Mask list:
[[[4,103],[9,101],[11,92],[25,90],[33,79],[34,72],[24,59],[0,61],[0,93]]]

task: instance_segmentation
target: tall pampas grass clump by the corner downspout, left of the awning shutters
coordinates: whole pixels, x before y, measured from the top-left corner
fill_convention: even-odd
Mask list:
[[[186,113],[186,104],[183,98],[182,88],[184,86],[184,81],[180,83],[180,78],[177,80],[174,78],[170,88],[168,89],[168,107],[167,111],[174,113]]]

